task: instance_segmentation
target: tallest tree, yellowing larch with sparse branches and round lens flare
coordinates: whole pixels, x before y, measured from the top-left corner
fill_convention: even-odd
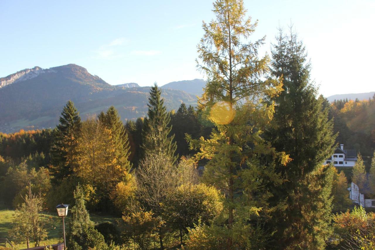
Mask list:
[[[272,162],[279,158],[278,155],[282,156],[276,154],[260,136],[274,111],[274,105],[267,105],[263,98],[277,95],[282,83],[269,77],[269,57],[258,56],[258,48],[264,38],[255,42],[248,40],[257,22],[253,23],[250,17],[246,17],[243,1],[217,0],[213,6],[216,19],[210,23],[203,22],[204,35],[198,44],[198,68],[207,75],[198,109],[214,123],[216,129],[209,139],[187,138],[192,148],[200,150],[195,160],[208,160],[203,173],[205,182],[225,194],[226,232],[223,234],[226,235],[226,248],[232,249],[235,247],[234,238],[244,239],[249,235],[248,231],[244,231],[248,228],[245,224],[249,221],[249,211],[259,211],[254,206],[260,203],[252,203],[256,196],[247,193],[256,190],[247,189],[245,183],[261,183],[267,179],[265,176],[249,177],[256,176],[253,170],[257,167],[267,173],[272,172],[272,164],[265,166],[257,158],[273,155]],[[284,155],[284,162],[288,160],[288,156]],[[276,181],[277,176],[274,177]],[[252,181],[243,182],[243,179]],[[263,205],[267,206],[266,202]],[[240,210],[247,211],[247,215],[241,215],[244,213]]]

